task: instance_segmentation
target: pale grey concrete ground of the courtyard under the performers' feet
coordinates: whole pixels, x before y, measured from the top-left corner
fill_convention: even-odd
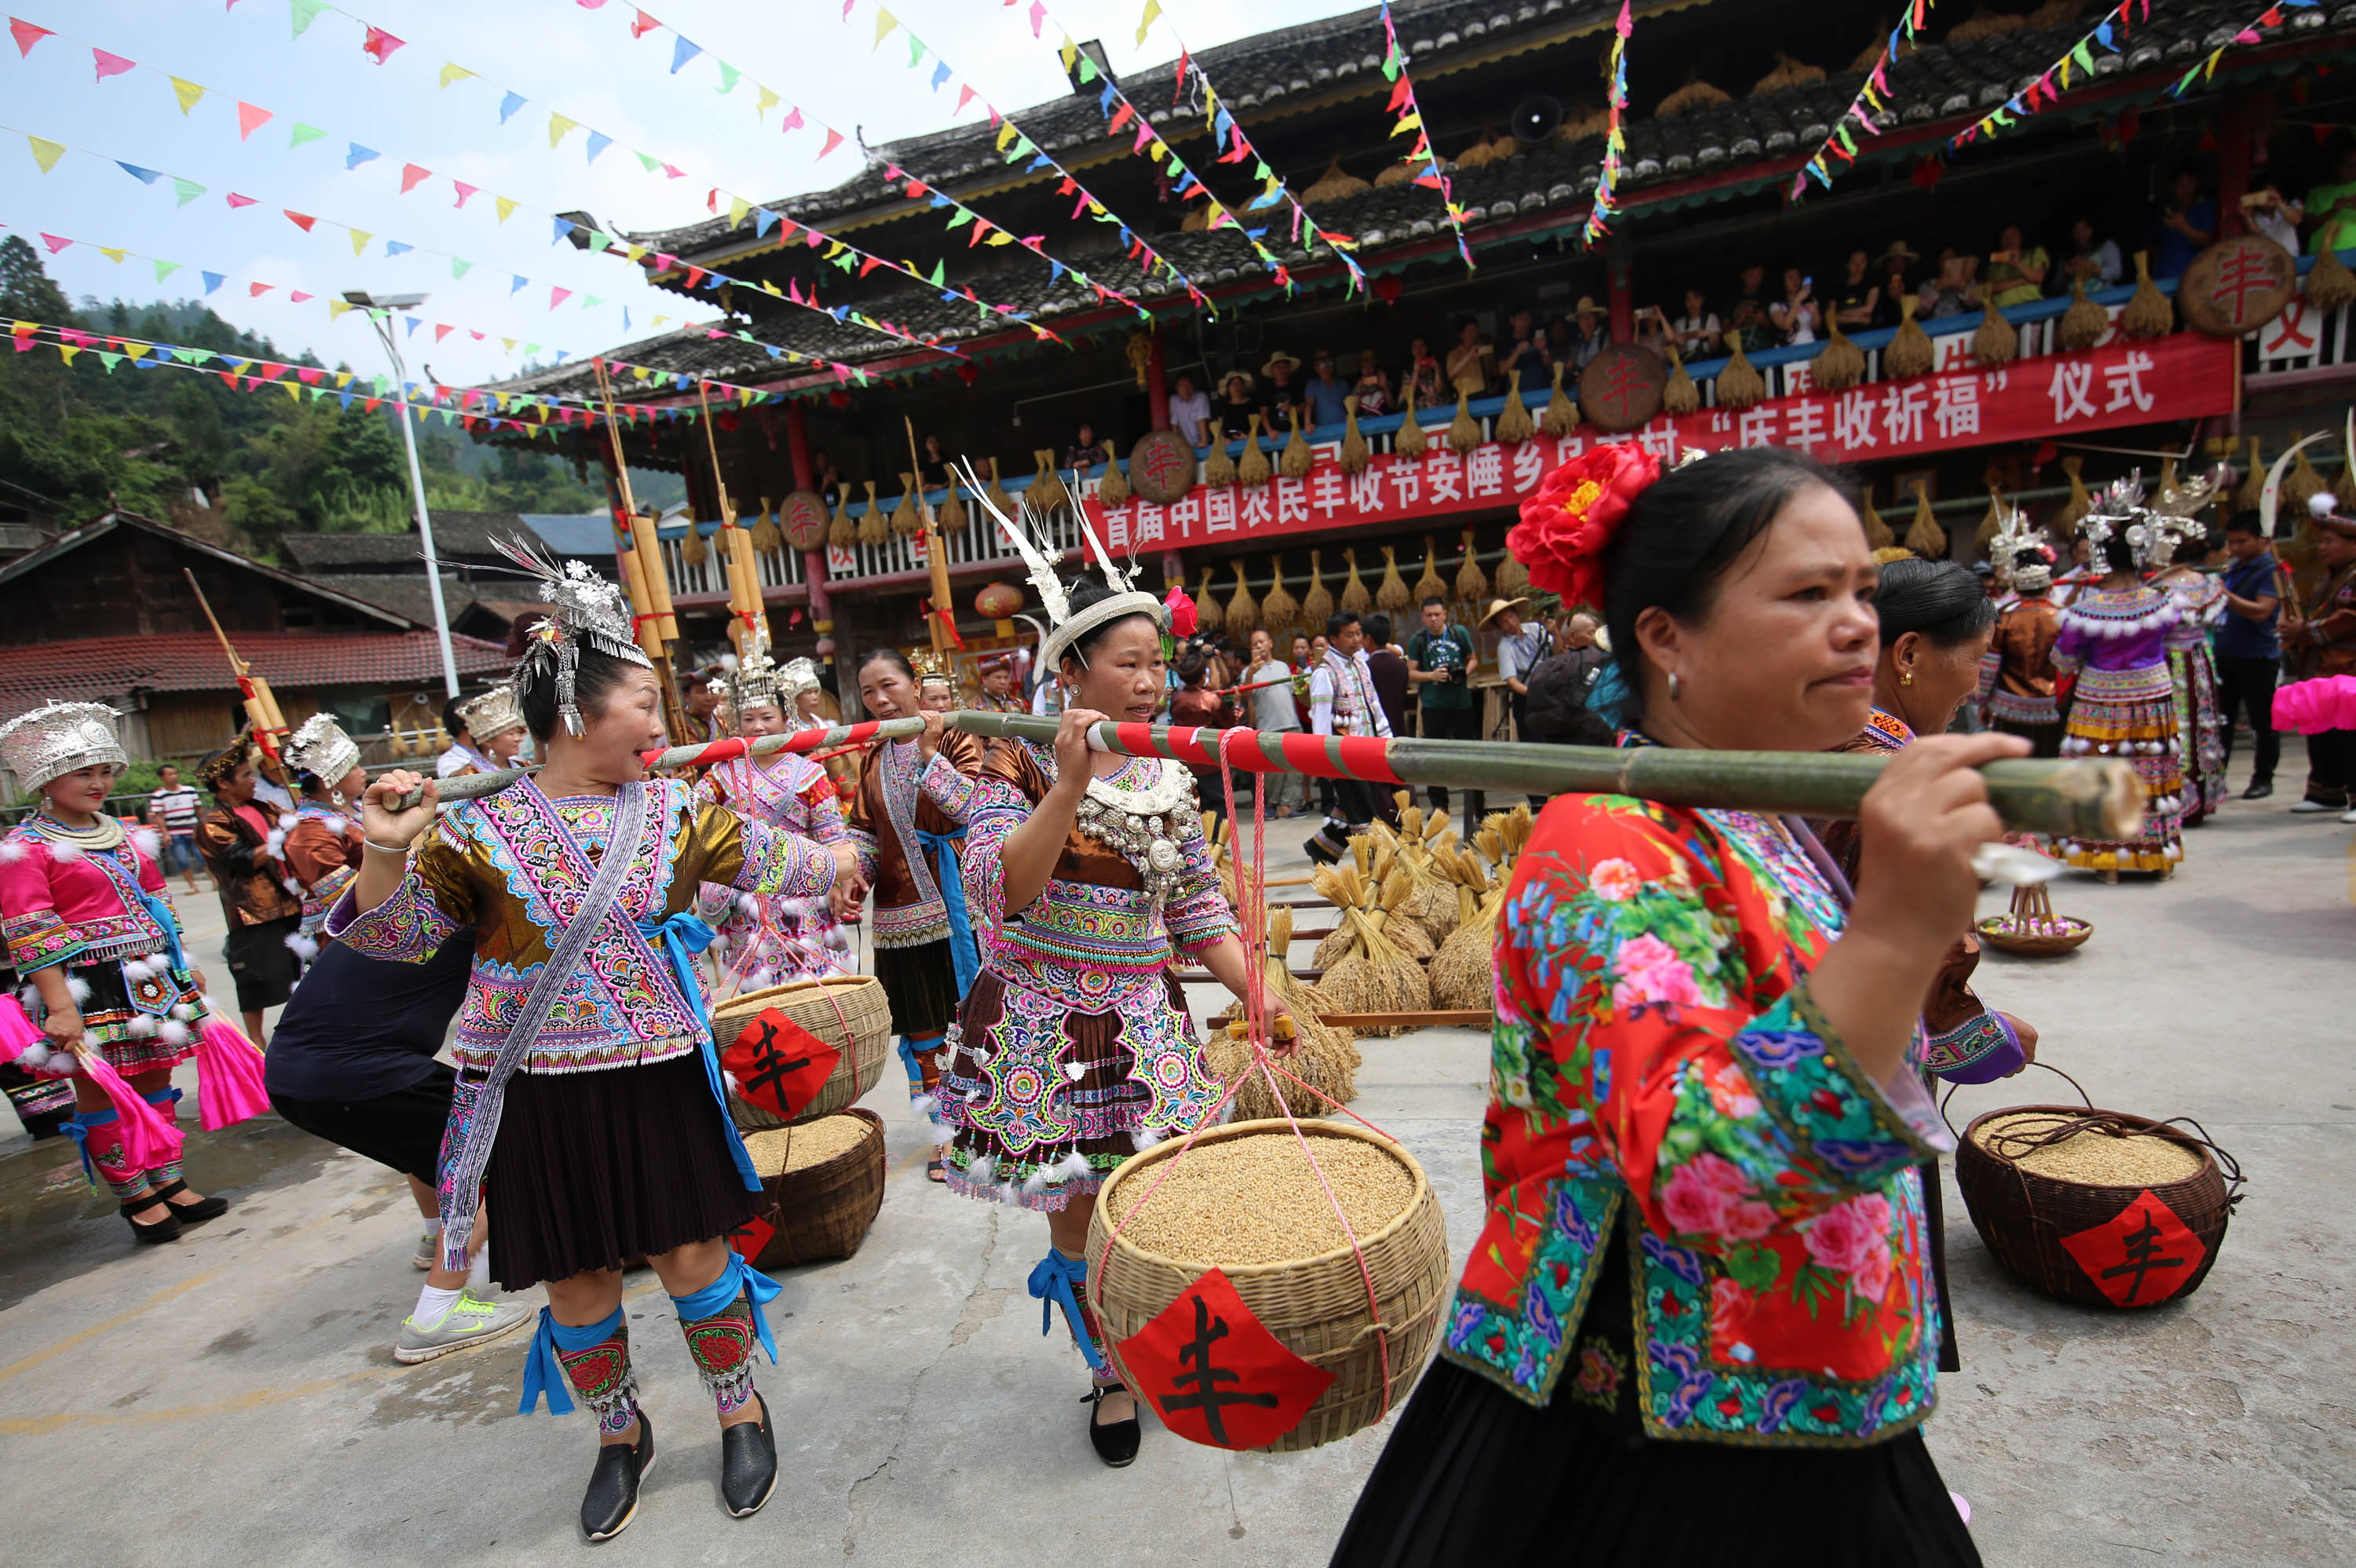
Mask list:
[[[2092,918],[2094,939],[1981,968],[1981,994],[2036,1022],[2043,1057],[2097,1104],[2198,1116],[2250,1177],[2208,1283],[2132,1316],[2010,1281],[1948,1182],[1965,1370],[1944,1380],[1930,1443],[1988,1563],[2356,1556],[2351,831],[2288,817],[2288,800],[2233,803],[2165,885],[2059,883],[2057,906]],[[1301,864],[1296,826],[1272,843],[1277,869]],[[179,902],[193,951],[217,965],[212,899]],[[1197,1005],[1218,1003],[1197,989]],[[1487,1043],[1423,1031],[1364,1050],[1355,1109],[1423,1161],[1461,1262],[1480,1212]],[[2069,1097],[2029,1074],[1963,1090],[1953,1109],[1960,1125]],[[601,1556],[1324,1561],[1383,1431],[1225,1455],[1147,1417],[1138,1464],[1103,1469],[1077,1354],[1060,1328],[1034,1330],[1023,1285],[1044,1224],[928,1187],[898,1083],[867,1104],[891,1123],[884,1212],[855,1257],[780,1274],[770,1314],[785,1356],[761,1370],[780,1422],[775,1500],[752,1521],[721,1514],[709,1406],[660,1285],[634,1274],[662,1462]],[[584,1417],[516,1415],[523,1333],[422,1368],[391,1358],[419,1283],[403,1182],[276,1118],[200,1132],[193,1095],[184,1109],[191,1180],[236,1208],[137,1253],[66,1144],[0,1123],[9,1559],[577,1561],[591,1436]]]

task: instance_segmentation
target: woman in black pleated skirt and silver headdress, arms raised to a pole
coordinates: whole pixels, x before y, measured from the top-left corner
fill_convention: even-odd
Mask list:
[[[631,636],[622,589],[523,542],[502,553],[551,612],[516,664],[544,753],[537,775],[436,815],[438,786],[393,770],[363,796],[360,876],[327,935],[363,958],[429,963],[471,930],[474,972],[450,1052],[443,1264],[466,1267],[476,1208],[497,1215],[490,1274],[547,1285],[518,1410],[596,1413],[582,1493],[589,1540],[624,1530],[655,1457],[638,1408],[622,1264],[643,1255],[679,1314],[721,1424],[721,1504],[735,1519],[777,1483],[775,1413],[754,1389],[761,1311],[777,1285],[728,1248],[761,1194],[728,1116],[695,954],[697,888],[822,897],[851,850],[648,779],[662,678]],[[417,791],[415,803],[410,791]]]

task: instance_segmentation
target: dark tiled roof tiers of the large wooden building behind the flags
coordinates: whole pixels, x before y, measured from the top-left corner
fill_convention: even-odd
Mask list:
[[[2153,7],[2151,21],[2137,24],[2127,38],[2125,54],[2097,54],[2097,85],[2106,78],[2130,73],[2142,75],[2156,68],[2184,71],[2201,57],[2229,42],[2248,21],[2245,0],[2193,0],[2191,5]],[[1395,9],[1399,35],[1409,45],[1418,73],[1447,66],[1451,52],[1468,54],[1475,47],[1496,49],[1513,35],[1543,38],[1550,31],[1579,26],[1609,16],[1616,5],[1593,5],[1590,0],[1440,0],[1416,5],[1407,0]],[[2283,38],[2318,42],[2335,49],[2356,49],[2356,0],[2337,0],[2330,9],[2285,12],[2288,28],[2269,35],[2276,45]],[[1345,75],[1378,68],[1374,12],[1352,12],[1331,21],[1263,33],[1251,40],[1211,49],[1204,61],[1223,92],[1235,94],[1235,108],[1251,125],[1251,108],[1284,104],[1289,97],[1308,99],[1333,89]],[[1892,111],[1899,127],[1953,122],[1963,115],[1986,113],[2036,75],[2080,38],[2080,28],[2092,21],[2092,7],[2076,26],[2059,31],[2019,31],[1981,38],[1965,45],[1927,45],[1901,59],[1892,73]],[[1359,54],[1359,40],[1364,52]],[[1357,61],[1357,64],[1352,64]],[[2236,57],[2226,54],[2219,78],[2233,71]],[[1162,80],[1169,68],[1157,68]],[[1150,80],[1154,71],[1138,73]],[[1741,172],[1758,165],[1758,181],[1783,179],[1788,167],[1779,160],[1795,160],[1816,148],[1835,118],[1849,106],[1864,78],[1852,71],[1833,73],[1812,87],[1788,87],[1769,94],[1751,94],[1727,104],[1703,106],[1682,115],[1656,118],[1637,104],[1637,118],[1626,127],[1626,174],[1621,195],[1642,205],[1647,188],[1673,186],[1677,181]],[[2219,82],[2222,85],[2222,82]],[[1312,92],[1315,89],[1315,92]],[[2062,108],[2066,111],[2069,97]],[[2047,108],[2045,113],[2054,113]],[[1041,139],[1051,151],[1103,139],[1103,120],[1096,99],[1074,94],[1034,111],[1015,115],[1025,132]],[[1868,144],[1871,146],[1871,144]],[[1442,148],[1447,151],[1447,148]],[[825,217],[874,207],[884,193],[881,158],[888,155],[928,181],[954,186],[973,172],[992,172],[997,162],[990,148],[990,127],[940,132],[876,148],[879,162],[858,179],[806,198],[777,202],[794,217]],[[1569,221],[1583,214],[1586,200],[1595,191],[1602,160],[1602,137],[1581,141],[1555,141],[1524,151],[1505,162],[1458,170],[1454,174],[1456,200],[1472,214],[1475,240],[1482,228],[1494,228],[1513,219],[1536,219],[1562,214]],[[1774,172],[1769,167],[1774,165]],[[961,172],[957,172],[961,170]],[[1739,193],[1746,181],[1734,179],[1727,193]],[[1383,252],[1404,245],[1440,240],[1444,217],[1440,198],[1416,186],[1376,186],[1357,195],[1319,205],[1317,221],[1336,233],[1357,235],[1359,259],[1381,268]],[[726,221],[695,224],[667,233],[636,235],[638,242],[674,254],[697,250],[726,250],[752,242],[752,219],[730,233]],[[1150,242],[1185,268],[1199,285],[1218,287],[1232,283],[1263,280],[1265,273],[1237,233],[1169,233],[1147,235]],[[1289,264],[1308,264],[1301,247],[1270,242]],[[1011,304],[1018,311],[1055,315],[1093,311],[1098,299],[1070,278],[1048,283],[1034,257],[1001,252],[994,271],[966,278],[973,290],[992,301]],[[1077,259],[1077,257],[1074,257]],[[1140,299],[1183,297],[1169,278],[1147,278],[1138,264],[1121,254],[1088,257],[1086,266],[1105,285]],[[754,334],[834,360],[876,360],[907,353],[905,344],[881,339],[862,327],[827,323],[815,313],[789,306],[756,306]],[[860,308],[874,318],[893,320],[916,334],[938,334],[957,344],[999,332],[1001,318],[978,318],[971,304],[945,301],[938,292],[905,287],[865,297]],[[704,330],[681,330],[662,337],[638,339],[613,351],[638,365],[700,374],[712,379],[775,379],[787,372],[782,356],[742,339],[712,339]],[[504,386],[521,391],[568,391],[589,388],[587,365],[556,367],[530,377],[518,377]]]

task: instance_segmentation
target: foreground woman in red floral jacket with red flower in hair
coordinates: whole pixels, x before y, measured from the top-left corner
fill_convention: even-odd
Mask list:
[[[1508,549],[1602,605],[1628,744],[1824,751],[1873,695],[1873,553],[1831,473],[1633,445]],[[1922,994],[2000,822],[1927,737],[1866,796],[1854,921],[1798,819],[1557,796],[1496,951],[1487,1227],[1333,1561],[1977,1563],[1918,1431],[1937,1333]]]

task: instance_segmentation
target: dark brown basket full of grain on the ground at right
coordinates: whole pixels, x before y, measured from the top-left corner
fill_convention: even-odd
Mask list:
[[[2158,1307],[2201,1288],[2241,1201],[2241,1165],[2191,1128],[2017,1104],[1972,1118],[1955,1184],[1979,1238],[2024,1285],[2116,1311]]]

